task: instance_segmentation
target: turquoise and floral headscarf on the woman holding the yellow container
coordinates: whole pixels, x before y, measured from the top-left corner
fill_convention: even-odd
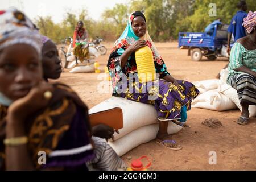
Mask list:
[[[153,52],[154,60],[159,62],[160,59],[162,59],[162,57],[160,56],[158,49],[156,49],[154,42],[150,38],[148,31],[146,31],[146,34],[142,38],[139,38],[137,35],[135,35],[133,31],[133,27],[131,27],[131,23],[133,22],[133,19],[138,16],[141,16],[146,22],[146,17],[144,16],[143,13],[141,13],[141,11],[135,11],[134,13],[131,13],[129,16],[125,31],[123,31],[122,35],[114,43],[113,51],[115,51],[118,48],[121,48],[124,45],[130,46],[135,41],[141,39],[146,41],[147,46],[150,47]],[[122,54],[122,52],[118,52],[118,53],[120,55]]]

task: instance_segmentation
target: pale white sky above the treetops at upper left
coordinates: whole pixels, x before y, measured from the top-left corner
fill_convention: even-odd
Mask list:
[[[34,20],[37,16],[52,16],[55,23],[60,23],[65,11],[77,12],[84,7],[90,18],[100,20],[105,9],[112,8],[116,3],[127,3],[130,0],[1,0],[0,9],[16,7]]]

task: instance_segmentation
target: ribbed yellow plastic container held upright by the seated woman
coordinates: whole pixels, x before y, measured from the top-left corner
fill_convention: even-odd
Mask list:
[[[148,46],[135,51],[135,59],[139,82],[149,82],[155,80],[155,64],[151,49]]]

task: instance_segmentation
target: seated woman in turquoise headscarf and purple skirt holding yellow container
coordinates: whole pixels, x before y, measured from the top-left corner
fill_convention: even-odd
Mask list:
[[[159,80],[141,83],[135,74],[135,51],[145,46],[152,51],[155,73],[159,75]],[[191,100],[199,94],[199,90],[190,82],[176,80],[167,72],[166,64],[148,34],[146,18],[140,11],[135,11],[129,16],[127,27],[115,42],[109,56],[108,68],[112,77],[113,94],[154,105],[159,121],[156,142],[172,150],[180,150],[181,147],[174,140],[164,140],[168,136],[168,122],[178,119],[181,122],[186,121],[186,112],[191,109]]]

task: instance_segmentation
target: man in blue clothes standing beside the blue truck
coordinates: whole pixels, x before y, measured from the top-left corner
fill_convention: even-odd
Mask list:
[[[234,42],[236,42],[237,39],[240,39],[244,36],[245,34],[245,28],[242,26],[243,24],[243,18],[247,17],[247,4],[245,1],[241,0],[237,4],[237,8],[240,9],[237,11],[236,15],[233,16],[229,28],[228,28],[228,49],[227,52],[230,54],[230,40],[231,36],[233,34],[234,36]]]

